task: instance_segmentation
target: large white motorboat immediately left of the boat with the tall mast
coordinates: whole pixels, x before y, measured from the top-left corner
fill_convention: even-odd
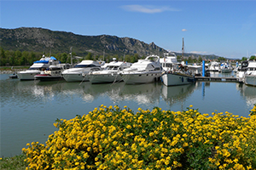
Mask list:
[[[120,72],[126,84],[140,84],[160,80],[163,71],[158,55],[149,55],[146,59],[138,59],[130,68]]]

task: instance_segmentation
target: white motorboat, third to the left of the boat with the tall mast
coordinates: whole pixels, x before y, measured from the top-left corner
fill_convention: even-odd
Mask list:
[[[89,81],[87,77],[89,72],[101,70],[101,62],[88,59],[82,60],[78,65],[75,65],[73,68],[63,71],[62,75],[67,82],[82,82]]]

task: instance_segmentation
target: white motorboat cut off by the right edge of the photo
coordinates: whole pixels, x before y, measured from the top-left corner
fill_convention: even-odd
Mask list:
[[[256,61],[249,62],[244,76],[244,83],[246,85],[256,86]]]

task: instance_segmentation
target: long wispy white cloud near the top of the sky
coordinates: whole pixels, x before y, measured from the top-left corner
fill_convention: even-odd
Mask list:
[[[162,13],[165,11],[179,11],[176,8],[169,8],[169,7],[155,7],[155,6],[143,6],[143,5],[125,5],[121,8],[124,8],[127,11],[131,12],[140,12],[140,13],[147,13],[147,14],[154,14],[154,13]]]

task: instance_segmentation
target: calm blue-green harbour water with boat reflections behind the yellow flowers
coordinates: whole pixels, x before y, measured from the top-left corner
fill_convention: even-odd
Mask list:
[[[214,77],[222,77],[212,73]],[[232,74],[224,77],[233,76]],[[125,105],[133,111],[182,111],[194,105],[201,113],[229,111],[248,116],[256,103],[256,88],[236,82],[196,82],[166,87],[160,82],[142,85],[90,84],[90,82],[20,82],[0,75],[1,148],[0,156],[15,156],[27,143],[45,143],[57,130],[57,118],[71,119],[100,105]]]

